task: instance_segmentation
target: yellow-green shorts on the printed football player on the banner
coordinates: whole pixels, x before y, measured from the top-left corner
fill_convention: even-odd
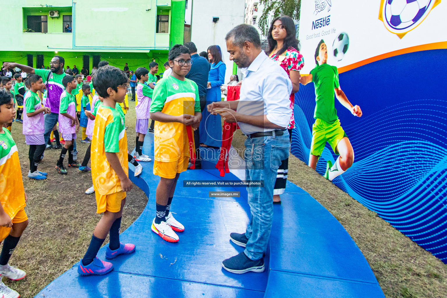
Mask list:
[[[310,145],[310,154],[320,156],[323,153],[326,142],[331,145],[335,154],[339,154],[337,144],[344,137],[347,137],[340,120],[337,119],[334,123],[325,122],[321,119],[316,119],[312,125],[312,143]]]

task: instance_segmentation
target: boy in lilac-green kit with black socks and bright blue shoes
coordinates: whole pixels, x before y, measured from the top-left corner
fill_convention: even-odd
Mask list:
[[[37,92],[43,88],[42,77],[39,75],[30,75],[26,80],[30,86],[30,91],[23,97],[23,134],[25,141],[30,145],[28,158],[30,159],[30,172],[28,177],[36,180],[46,179],[45,172],[37,170],[38,163],[45,150],[44,120],[43,115],[50,113],[50,108],[42,107],[42,102]]]

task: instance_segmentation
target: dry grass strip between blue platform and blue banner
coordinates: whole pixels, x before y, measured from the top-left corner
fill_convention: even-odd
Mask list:
[[[233,147],[244,149],[244,140],[237,130]],[[430,252],[293,155],[289,157],[288,180],[319,201],[348,231],[387,298],[447,297],[447,265]]]

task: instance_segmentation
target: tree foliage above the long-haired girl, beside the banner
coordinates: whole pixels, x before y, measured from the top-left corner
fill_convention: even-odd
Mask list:
[[[266,34],[269,30],[270,13],[273,13],[274,18],[287,15],[299,21],[301,0],[259,0],[259,3],[264,5],[262,16],[258,21],[258,27],[261,29],[262,34]]]

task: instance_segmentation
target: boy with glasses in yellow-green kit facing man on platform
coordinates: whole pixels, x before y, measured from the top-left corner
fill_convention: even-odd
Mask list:
[[[202,119],[197,84],[185,78],[191,69],[190,50],[175,45],[168,54],[172,74],[155,86],[150,109],[154,127],[154,174],[160,176],[156,190],[156,217],[152,231],[166,241],[177,242],[174,231],[185,227],[169,210],[175,185],[181,172],[186,171],[188,160],[194,155],[192,129]],[[192,128],[192,129],[191,129]]]

